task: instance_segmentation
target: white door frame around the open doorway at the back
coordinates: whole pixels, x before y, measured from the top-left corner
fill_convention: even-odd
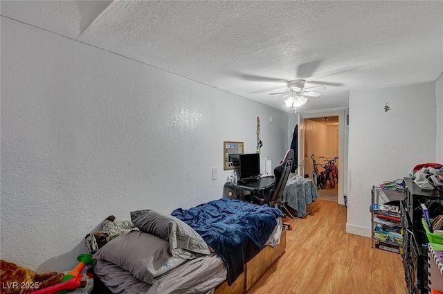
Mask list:
[[[338,169],[338,178],[340,180],[338,181],[337,202],[338,204],[345,205],[345,198],[343,196],[345,192],[345,182],[347,183],[345,179],[345,176],[347,176],[345,175],[345,170],[347,170],[347,167],[345,167],[345,162],[347,162],[347,160],[345,160],[345,110],[297,113],[297,115],[297,121],[299,120],[298,117],[307,119],[338,116],[338,166],[341,168]],[[300,134],[298,140],[300,141]]]

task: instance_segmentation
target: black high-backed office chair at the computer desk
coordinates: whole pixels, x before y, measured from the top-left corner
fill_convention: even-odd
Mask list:
[[[286,182],[289,178],[289,174],[291,173],[293,156],[293,149],[289,149],[284,155],[282,163],[274,167],[273,181],[269,185],[267,185],[260,193],[253,194],[254,203],[268,204],[269,206],[274,206],[280,208],[280,210],[282,211],[285,210],[286,212],[288,212],[288,210],[283,205],[282,196],[284,187],[286,187]]]

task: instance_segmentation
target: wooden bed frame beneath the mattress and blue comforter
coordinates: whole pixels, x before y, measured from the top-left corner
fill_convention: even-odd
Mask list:
[[[215,288],[214,294],[243,294],[248,291],[274,261],[284,253],[286,249],[286,231],[282,231],[278,246],[265,246],[250,261],[246,262],[244,272],[237,277],[232,285],[229,286],[228,281],[225,281]],[[93,273],[92,268],[88,271]],[[94,287],[91,294],[112,294],[112,292],[94,275]]]

